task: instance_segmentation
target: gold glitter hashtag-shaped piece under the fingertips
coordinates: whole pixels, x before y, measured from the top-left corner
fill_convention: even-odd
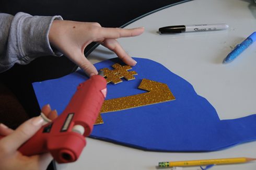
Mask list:
[[[128,71],[131,70],[131,66],[121,66],[118,63],[112,65],[114,68],[110,70],[108,68],[102,68],[101,71],[104,72],[103,77],[106,77],[107,83],[112,82],[114,84],[122,82],[121,78],[125,78],[126,80],[134,80],[134,75],[137,75],[136,71]]]

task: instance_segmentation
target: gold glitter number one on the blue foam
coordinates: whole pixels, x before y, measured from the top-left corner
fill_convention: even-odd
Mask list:
[[[139,84],[138,89],[146,90],[148,92],[106,100],[102,105],[100,113],[121,111],[128,108],[175,100],[175,97],[165,83],[143,79],[141,84]],[[96,125],[102,123],[103,120],[99,115]]]

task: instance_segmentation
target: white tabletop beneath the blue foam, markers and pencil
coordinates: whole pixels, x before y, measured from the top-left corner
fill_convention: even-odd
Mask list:
[[[222,64],[238,43],[256,31],[256,5],[242,0],[194,0],[162,9],[126,28],[145,27],[135,38],[119,42],[131,56],[153,59],[189,81],[195,91],[216,109],[220,119],[256,113],[256,43],[234,62]],[[228,30],[159,35],[159,27],[228,23]],[[92,63],[116,57],[99,46],[89,55]],[[256,129],[255,129],[256,130]],[[149,152],[87,138],[87,146],[75,163],[56,164],[57,169],[156,169],[158,162],[222,157],[256,157],[256,141],[205,153]],[[183,169],[200,169],[186,167]],[[256,162],[218,165],[211,169],[256,169]]]

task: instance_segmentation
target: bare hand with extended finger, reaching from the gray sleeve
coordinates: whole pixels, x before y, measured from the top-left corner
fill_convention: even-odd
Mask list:
[[[125,64],[135,66],[135,60],[115,39],[134,37],[142,34],[143,31],[144,28],[103,28],[96,22],[54,20],[49,33],[49,41],[51,45],[82,68],[88,76],[91,76],[98,74],[98,71],[84,56],[84,50],[88,44],[99,42],[116,53]]]

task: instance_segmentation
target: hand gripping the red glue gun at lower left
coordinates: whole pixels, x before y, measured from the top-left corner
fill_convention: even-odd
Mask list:
[[[57,117],[57,112],[52,111],[50,105],[45,105],[42,113],[50,119]],[[0,169],[46,169],[48,167],[52,161],[50,153],[25,156],[17,151],[44,124],[41,116],[27,120],[16,130],[0,124],[0,135],[5,136],[0,139]]]

